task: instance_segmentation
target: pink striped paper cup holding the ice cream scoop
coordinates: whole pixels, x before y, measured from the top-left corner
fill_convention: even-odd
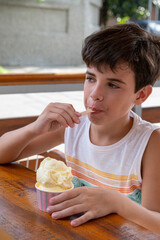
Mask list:
[[[47,207],[50,205],[49,204],[50,198],[57,196],[64,191],[73,189],[74,185],[72,186],[72,188],[70,188],[68,190],[57,191],[57,192],[50,192],[50,191],[42,190],[42,189],[38,188],[36,186],[36,184],[35,184],[35,188],[36,188],[36,192],[37,192],[38,208],[43,212],[47,212]]]

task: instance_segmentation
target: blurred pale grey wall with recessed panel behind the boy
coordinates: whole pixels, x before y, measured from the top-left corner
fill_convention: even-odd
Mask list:
[[[101,0],[0,0],[0,65],[78,66]]]

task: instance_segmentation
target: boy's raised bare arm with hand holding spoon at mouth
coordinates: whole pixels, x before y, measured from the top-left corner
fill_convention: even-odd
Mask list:
[[[70,104],[49,104],[35,122],[0,138],[0,163],[39,154],[63,143],[65,128],[79,123],[78,116]]]

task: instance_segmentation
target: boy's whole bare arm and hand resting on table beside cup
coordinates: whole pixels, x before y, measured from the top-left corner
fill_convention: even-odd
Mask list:
[[[124,194],[100,187],[82,187],[51,199],[48,212],[54,219],[84,214],[71,222],[79,226],[91,219],[118,213],[160,234],[160,132],[152,134],[143,157],[142,205]]]

